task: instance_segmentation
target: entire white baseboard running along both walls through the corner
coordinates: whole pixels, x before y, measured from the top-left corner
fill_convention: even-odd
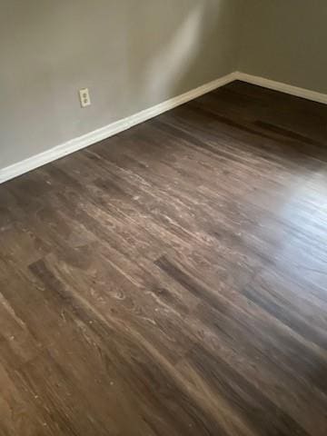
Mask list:
[[[173,97],[172,99],[163,103],[156,104],[155,106],[145,109],[137,114],[128,116],[127,118],[116,121],[112,124],[108,124],[100,129],[94,130],[94,132],[84,134],[83,136],[74,138],[64,144],[57,145],[43,153],[35,154],[35,156],[29,157],[24,161],[2,168],[0,169],[0,183],[4,183],[17,177],[18,175],[35,170],[35,168],[45,165],[45,163],[53,162],[60,157],[74,153],[77,150],[81,150],[89,145],[103,141],[104,139],[114,136],[114,134],[119,134],[120,132],[129,129],[136,124],[144,123],[144,121],[154,118],[154,116],[163,114],[163,112],[169,111],[180,104],[187,103],[194,98],[209,93],[214,89],[223,86],[224,84],[233,82],[234,80],[242,80],[243,82],[247,82],[249,84],[257,84],[259,86],[263,86],[264,88],[281,91],[282,93],[292,94],[312,100],[314,102],[327,104],[327,94],[317,93],[315,91],[298,88],[297,86],[292,86],[290,84],[282,84],[281,82],[275,82],[273,80],[265,79],[264,77],[245,74],[237,71],[224,75],[220,79],[213,80],[213,82],[208,84],[203,84],[202,86],[199,86],[188,93],[178,95],[177,97]]]

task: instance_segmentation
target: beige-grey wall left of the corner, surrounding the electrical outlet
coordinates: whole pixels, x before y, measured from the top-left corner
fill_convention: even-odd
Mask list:
[[[231,73],[239,1],[0,0],[0,168]]]

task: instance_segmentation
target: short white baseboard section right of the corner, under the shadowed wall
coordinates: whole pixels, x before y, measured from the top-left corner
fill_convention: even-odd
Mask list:
[[[292,86],[292,84],[283,84],[282,82],[276,82],[258,75],[245,74],[240,71],[236,71],[234,76],[237,80],[242,80],[248,84],[257,84],[258,86],[263,86],[263,88],[272,89],[273,91],[280,91],[284,94],[291,94],[295,95],[296,97],[312,100],[312,102],[327,104],[327,94],[299,88],[297,86]]]

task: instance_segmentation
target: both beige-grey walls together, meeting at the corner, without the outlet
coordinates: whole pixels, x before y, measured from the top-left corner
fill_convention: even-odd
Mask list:
[[[327,94],[326,23],[326,0],[0,0],[0,169],[237,69]]]

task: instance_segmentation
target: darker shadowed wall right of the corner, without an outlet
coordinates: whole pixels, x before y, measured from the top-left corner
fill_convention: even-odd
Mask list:
[[[238,69],[327,94],[327,1],[245,3]]]

